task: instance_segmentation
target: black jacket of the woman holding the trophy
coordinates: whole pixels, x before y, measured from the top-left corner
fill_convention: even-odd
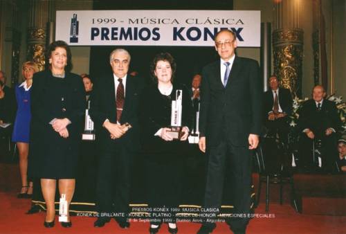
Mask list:
[[[181,144],[188,144],[188,141],[164,141],[159,136],[154,136],[162,127],[170,127],[172,100],[175,100],[177,89],[183,90],[181,125],[189,127],[192,106],[188,89],[183,84],[173,84],[172,93],[167,99],[160,93],[157,84],[143,89],[139,116],[140,138],[145,152],[176,152],[181,150]]]

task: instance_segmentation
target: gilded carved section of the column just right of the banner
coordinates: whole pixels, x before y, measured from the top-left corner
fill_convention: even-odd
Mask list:
[[[282,87],[293,96],[302,93],[302,42],[300,28],[282,28],[273,32],[274,73]]]

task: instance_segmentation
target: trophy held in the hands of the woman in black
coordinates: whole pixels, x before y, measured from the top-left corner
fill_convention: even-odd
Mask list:
[[[172,110],[171,110],[171,126],[170,130],[167,131],[173,139],[180,139],[183,136],[181,127],[181,111],[183,109],[183,90],[176,90],[176,100],[172,100]]]

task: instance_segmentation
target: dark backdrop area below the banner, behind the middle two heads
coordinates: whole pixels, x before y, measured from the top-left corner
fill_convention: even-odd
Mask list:
[[[131,54],[129,71],[138,71],[141,78],[149,81],[150,64],[156,53],[168,52],[176,60],[176,80],[190,87],[192,75],[201,72],[206,64],[217,60],[212,47],[191,46],[93,46],[91,47],[90,75],[97,79],[111,72],[109,54],[115,48],[125,48]]]

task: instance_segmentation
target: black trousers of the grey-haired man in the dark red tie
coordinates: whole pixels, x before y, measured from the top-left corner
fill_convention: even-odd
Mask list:
[[[129,213],[130,172],[133,153],[119,143],[113,143],[102,149],[98,161],[97,208],[100,216],[112,216],[113,213]]]

